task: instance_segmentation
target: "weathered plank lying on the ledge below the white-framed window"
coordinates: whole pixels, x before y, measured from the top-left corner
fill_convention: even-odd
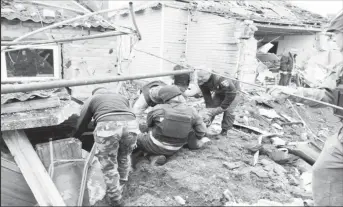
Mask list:
[[[35,109],[46,109],[53,108],[61,105],[60,99],[55,97],[50,97],[46,99],[37,99],[24,102],[14,102],[9,104],[1,105],[1,114],[9,114],[15,112],[30,111]]]

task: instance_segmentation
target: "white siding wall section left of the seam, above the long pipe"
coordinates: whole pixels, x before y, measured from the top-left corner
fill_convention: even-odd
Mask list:
[[[161,10],[146,10],[135,15],[137,25],[142,35],[135,48],[160,56],[161,48]],[[132,25],[130,15],[117,16],[115,19],[119,25]],[[160,59],[141,53],[134,52],[134,58],[128,68],[130,74],[152,73],[160,71]]]

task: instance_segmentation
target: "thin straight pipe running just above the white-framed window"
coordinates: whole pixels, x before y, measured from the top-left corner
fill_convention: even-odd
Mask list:
[[[47,43],[58,43],[58,42],[72,42],[77,40],[88,40],[88,39],[96,39],[96,38],[103,38],[103,37],[112,37],[112,36],[119,36],[119,35],[127,35],[131,33],[124,33],[124,32],[106,32],[104,34],[95,34],[95,35],[88,35],[82,37],[72,37],[72,38],[62,38],[62,39],[54,39],[54,40],[39,40],[39,41],[23,41],[23,42],[3,42],[1,41],[2,46],[12,46],[12,45],[36,45],[36,44],[47,44]],[[4,51],[6,52],[6,51]]]

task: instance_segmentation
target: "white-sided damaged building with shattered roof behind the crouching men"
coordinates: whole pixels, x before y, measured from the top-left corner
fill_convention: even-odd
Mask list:
[[[301,66],[313,57],[318,60],[318,56],[323,64],[340,60],[338,51],[331,48],[329,37],[322,33],[328,20],[285,1],[143,2],[135,13],[145,37],[137,49],[144,48],[180,64],[213,68],[251,83],[258,72],[257,48],[266,43],[273,44],[269,53],[277,56],[291,48],[298,49],[297,61]],[[119,24],[130,24],[128,12],[113,15],[112,19]],[[128,67],[132,73],[173,68],[173,64],[161,59],[137,50],[132,52],[135,61]],[[257,56],[270,61],[265,55]]]

